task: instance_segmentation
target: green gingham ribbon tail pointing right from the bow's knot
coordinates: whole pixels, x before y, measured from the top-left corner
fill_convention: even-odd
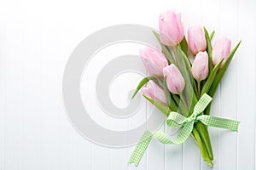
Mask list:
[[[224,119],[220,117],[207,116],[207,115],[199,116],[198,120],[210,127],[230,129],[232,131],[238,131],[238,126],[240,123],[239,121],[236,121],[236,120]]]

